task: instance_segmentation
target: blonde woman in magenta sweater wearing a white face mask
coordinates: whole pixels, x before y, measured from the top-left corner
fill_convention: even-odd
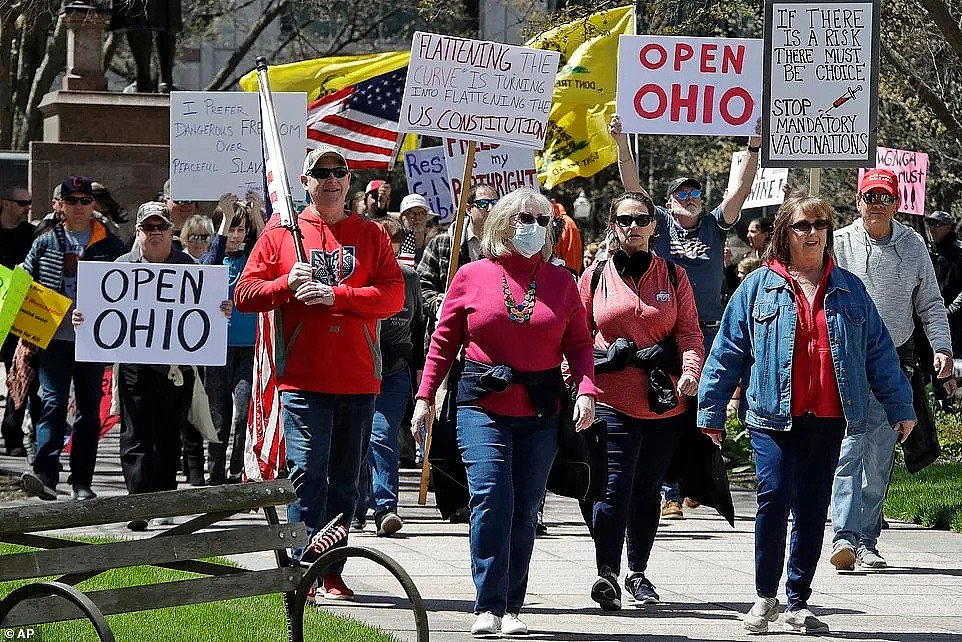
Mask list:
[[[534,190],[501,198],[481,235],[483,259],[451,282],[424,365],[412,431],[421,427],[452,362],[464,351],[458,386],[458,445],[471,494],[471,573],[477,590],[471,633],[524,635],[518,619],[528,582],[538,506],[558,450],[567,398],[567,358],[578,389],[579,430],[594,418],[591,336],[571,273],[551,265],[553,211]]]

